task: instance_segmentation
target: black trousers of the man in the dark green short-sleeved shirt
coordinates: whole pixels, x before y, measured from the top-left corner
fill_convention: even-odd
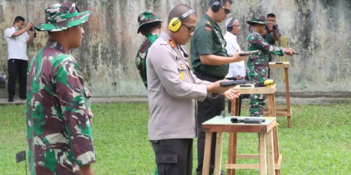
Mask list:
[[[204,74],[202,72],[194,72],[194,74],[202,79],[211,82],[215,82],[223,77],[216,77]],[[225,108],[225,97],[223,95],[217,98],[209,99],[206,98],[204,101],[198,101],[197,110],[197,123],[198,123],[198,167],[196,168],[197,174],[202,174],[202,167],[204,162],[204,149],[205,149],[205,132],[202,131],[202,123],[213,118],[214,116],[220,115],[221,111]],[[215,165],[215,148],[216,148],[216,133],[213,133],[212,147],[211,147],[211,160],[210,160],[210,172],[213,173]]]

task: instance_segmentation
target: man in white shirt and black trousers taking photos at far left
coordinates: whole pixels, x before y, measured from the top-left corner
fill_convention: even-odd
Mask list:
[[[14,24],[11,28],[6,28],[5,36],[8,44],[8,72],[9,72],[9,102],[14,101],[16,91],[17,75],[20,78],[20,99],[26,100],[26,84],[27,84],[27,42],[33,42],[33,23],[28,23],[24,27],[25,18],[16,16]],[[30,34],[27,33],[28,30]]]

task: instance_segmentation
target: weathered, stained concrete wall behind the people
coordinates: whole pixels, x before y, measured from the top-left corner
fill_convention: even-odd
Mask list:
[[[16,15],[26,21],[44,21],[44,6],[64,0],[0,0],[0,72],[7,71],[5,28]],[[93,11],[85,26],[82,45],[72,50],[85,71],[94,96],[145,95],[146,90],[134,65],[135,51],[143,37],[136,34],[137,15],[151,9],[166,22],[168,11],[178,3],[193,6],[202,16],[209,0],[76,0],[81,10]],[[248,33],[246,20],[254,14],[273,12],[288,44],[301,56],[286,56],[290,61],[290,89],[294,96],[351,97],[351,49],[349,0],[235,0],[230,16],[239,18],[242,32],[238,40],[243,48]],[[221,24],[224,29],[224,23]],[[163,24],[163,27],[165,24]],[[28,55],[45,44],[46,33],[38,32]],[[187,45],[189,49],[189,45]],[[274,60],[280,60],[274,57]],[[283,91],[281,70],[272,77]],[[337,91],[337,92],[334,92]],[[0,97],[6,97],[0,89]]]

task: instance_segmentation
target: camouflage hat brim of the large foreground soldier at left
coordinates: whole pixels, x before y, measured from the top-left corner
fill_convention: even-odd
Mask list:
[[[57,23],[40,23],[34,27],[38,31],[62,31],[67,28],[80,25],[88,21],[91,10],[80,12],[77,16]]]

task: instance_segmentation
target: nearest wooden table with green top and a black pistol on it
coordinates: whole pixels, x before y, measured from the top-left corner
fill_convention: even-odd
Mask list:
[[[276,129],[276,117],[263,117],[265,122],[260,124],[246,124],[246,123],[232,123],[231,117],[216,116],[202,124],[203,131],[206,132],[205,151],[204,151],[204,165],[203,175],[210,173],[210,159],[211,159],[211,144],[212,134],[217,132],[216,141],[216,156],[215,156],[215,170],[214,174],[221,173],[222,162],[222,144],[223,132],[234,133],[231,134],[229,142],[230,148],[228,152],[228,161],[225,167],[228,169],[228,174],[235,174],[235,169],[260,169],[260,174],[280,174],[280,166],[282,155],[279,155],[278,138]],[[244,118],[244,117],[242,117]],[[262,118],[262,117],[245,117],[245,118]],[[237,154],[236,142],[237,132],[257,132],[259,134],[259,154]],[[233,137],[234,136],[234,137]],[[277,161],[275,161],[277,157]],[[236,164],[236,158],[253,158],[259,159],[259,164]],[[232,170],[233,169],[233,170]],[[279,171],[278,171],[279,170]],[[278,172],[277,172],[278,171]]]

